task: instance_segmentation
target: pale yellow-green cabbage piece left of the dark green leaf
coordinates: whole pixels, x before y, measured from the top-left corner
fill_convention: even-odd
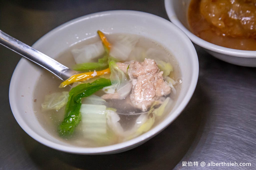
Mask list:
[[[43,110],[59,110],[65,104],[68,102],[68,91],[62,91],[62,92],[57,92],[57,93],[52,93],[50,95],[45,96],[45,100],[42,103],[42,109]]]

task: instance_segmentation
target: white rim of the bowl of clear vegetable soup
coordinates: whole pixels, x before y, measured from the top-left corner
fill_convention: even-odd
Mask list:
[[[19,110],[16,107],[15,104],[15,93],[14,93],[14,89],[15,89],[15,84],[17,82],[17,76],[19,73],[19,68],[22,68],[24,64],[26,64],[28,61],[25,58],[22,58],[19,63],[17,64],[11,81],[10,81],[10,86],[9,86],[9,101],[10,101],[10,106],[11,106],[11,110],[13,112],[13,115],[16,119],[16,121],[18,122],[18,124],[20,125],[20,127],[22,127],[22,129],[32,138],[34,138],[35,140],[37,140],[38,142],[59,150],[59,151],[63,151],[63,152],[68,152],[68,153],[76,153],[76,154],[107,154],[107,153],[112,153],[115,151],[122,151],[122,150],[128,150],[127,148],[132,149],[133,146],[137,146],[139,143],[143,143],[144,141],[154,137],[155,135],[157,135],[158,133],[160,133],[162,130],[164,130],[170,123],[172,123],[177,117],[178,115],[184,110],[184,108],[186,107],[187,103],[189,102],[190,98],[192,97],[196,85],[197,85],[197,80],[198,80],[198,74],[199,74],[199,63],[198,63],[198,57],[197,57],[197,53],[196,50],[192,44],[192,42],[189,40],[189,38],[187,37],[187,35],[182,32],[177,26],[175,26],[174,24],[172,24],[170,21],[150,14],[150,13],[146,13],[146,12],[141,12],[141,11],[134,11],[134,10],[111,10],[111,11],[102,11],[102,12],[95,12],[92,14],[88,14],[88,15],[84,15],[75,19],[72,19],[66,23],[61,24],[60,26],[56,27],[55,29],[49,31],[48,33],[46,33],[44,36],[42,36],[41,38],[39,38],[39,40],[37,40],[34,44],[33,47],[37,46],[37,44],[40,44],[41,42],[44,41],[44,39],[48,36],[51,36],[52,34],[55,34],[56,32],[58,32],[58,30],[61,30],[65,27],[68,27],[69,24],[73,24],[76,22],[80,22],[82,20],[86,20],[88,18],[92,18],[92,17],[99,17],[99,16],[104,16],[104,15],[119,15],[119,14],[125,14],[125,15],[135,15],[135,16],[143,16],[143,17],[147,17],[147,18],[151,18],[151,19],[155,19],[158,20],[159,22],[161,21],[163,24],[169,25],[169,27],[171,27],[172,29],[180,32],[180,36],[183,38],[184,42],[186,43],[186,45],[189,47],[187,49],[189,49],[189,53],[191,53],[191,65],[192,65],[192,69],[193,69],[193,74],[192,74],[192,78],[191,78],[191,83],[189,85],[188,88],[188,92],[185,95],[185,97],[182,99],[182,102],[180,103],[180,105],[177,107],[177,109],[175,110],[175,112],[173,112],[173,114],[169,117],[167,117],[167,119],[163,120],[160,124],[158,124],[157,126],[155,126],[154,128],[150,129],[148,132],[135,137],[131,140],[125,141],[125,142],[121,142],[121,143],[117,143],[114,145],[108,145],[108,146],[103,146],[103,147],[95,147],[95,148],[90,148],[90,147],[76,147],[76,146],[64,146],[62,144],[57,144],[55,142],[52,142],[40,135],[38,135],[36,132],[34,132],[33,129],[31,129],[22,119],[21,115],[19,114]]]

